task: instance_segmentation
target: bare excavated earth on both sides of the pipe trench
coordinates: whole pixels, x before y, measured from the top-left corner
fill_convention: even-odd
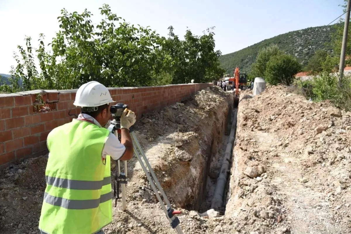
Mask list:
[[[233,121],[233,92],[217,87],[143,116],[144,152],[184,233],[351,233],[351,113],[287,87],[240,93],[225,206],[211,209]],[[0,233],[39,233],[47,155],[0,174]],[[112,164],[114,173],[114,163]],[[118,200],[105,233],[176,233],[137,159],[128,162],[127,211]],[[209,217],[210,216],[210,217]]]

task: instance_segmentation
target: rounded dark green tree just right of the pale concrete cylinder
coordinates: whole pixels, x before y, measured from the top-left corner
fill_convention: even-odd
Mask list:
[[[292,55],[279,54],[267,62],[264,78],[272,85],[290,85],[293,77],[301,69],[299,61]]]

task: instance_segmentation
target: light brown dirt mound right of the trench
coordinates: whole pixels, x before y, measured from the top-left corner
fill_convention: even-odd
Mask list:
[[[226,209],[233,227],[350,233],[350,115],[282,86],[244,92]]]

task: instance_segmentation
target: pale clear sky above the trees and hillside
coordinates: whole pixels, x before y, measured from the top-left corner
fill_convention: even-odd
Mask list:
[[[25,35],[37,46],[39,33],[51,42],[59,30],[60,10],[91,11],[100,20],[103,3],[126,21],[150,26],[162,36],[172,25],[183,38],[186,27],[200,35],[215,26],[216,49],[238,51],[261,40],[307,27],[329,24],[341,15],[343,0],[0,0],[0,73],[8,74],[13,51]],[[344,16],[343,16],[344,17]]]

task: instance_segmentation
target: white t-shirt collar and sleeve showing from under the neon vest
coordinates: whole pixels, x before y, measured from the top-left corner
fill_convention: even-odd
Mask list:
[[[101,127],[100,123],[95,120],[92,116],[88,114],[79,114],[78,118],[73,120],[73,121],[84,121],[84,120],[78,120],[78,119],[86,119],[88,121],[92,121],[95,125],[98,127]],[[104,148],[102,148],[102,158],[106,158],[106,155],[110,155],[113,160],[119,160],[124,152],[126,151],[126,147],[121,144],[121,142],[118,140],[117,136],[110,134],[107,136],[104,144]],[[49,153],[50,156],[50,153]]]

